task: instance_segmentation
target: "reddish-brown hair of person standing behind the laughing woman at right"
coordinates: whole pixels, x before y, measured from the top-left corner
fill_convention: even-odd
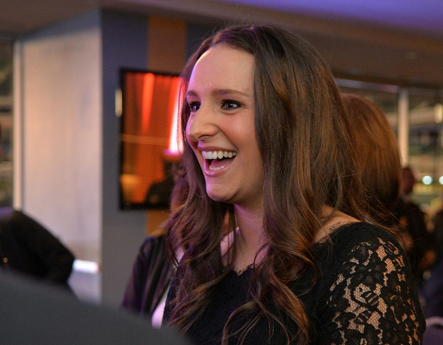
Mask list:
[[[395,134],[385,114],[373,102],[354,94],[342,94],[342,101],[358,154],[358,173],[369,198],[366,205],[371,206],[367,211],[374,219],[392,226],[392,210],[401,182]]]

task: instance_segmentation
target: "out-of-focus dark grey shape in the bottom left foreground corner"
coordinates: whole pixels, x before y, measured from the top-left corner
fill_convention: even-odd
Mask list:
[[[188,344],[139,317],[82,303],[65,291],[11,273],[0,275],[0,305],[0,344]]]

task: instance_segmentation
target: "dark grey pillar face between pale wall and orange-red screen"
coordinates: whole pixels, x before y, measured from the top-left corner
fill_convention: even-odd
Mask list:
[[[101,300],[118,306],[132,262],[146,233],[146,210],[119,209],[120,119],[115,94],[120,68],[145,69],[148,18],[114,11],[101,12],[103,153]]]

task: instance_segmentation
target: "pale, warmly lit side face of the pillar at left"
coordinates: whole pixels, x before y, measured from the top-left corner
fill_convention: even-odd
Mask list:
[[[101,262],[100,12],[43,29],[18,44],[22,209],[77,258]]]

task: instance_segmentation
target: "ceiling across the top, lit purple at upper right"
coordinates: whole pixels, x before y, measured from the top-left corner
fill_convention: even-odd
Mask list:
[[[286,24],[340,77],[443,88],[443,0],[1,0],[0,37],[17,39],[97,8],[227,24]]]

